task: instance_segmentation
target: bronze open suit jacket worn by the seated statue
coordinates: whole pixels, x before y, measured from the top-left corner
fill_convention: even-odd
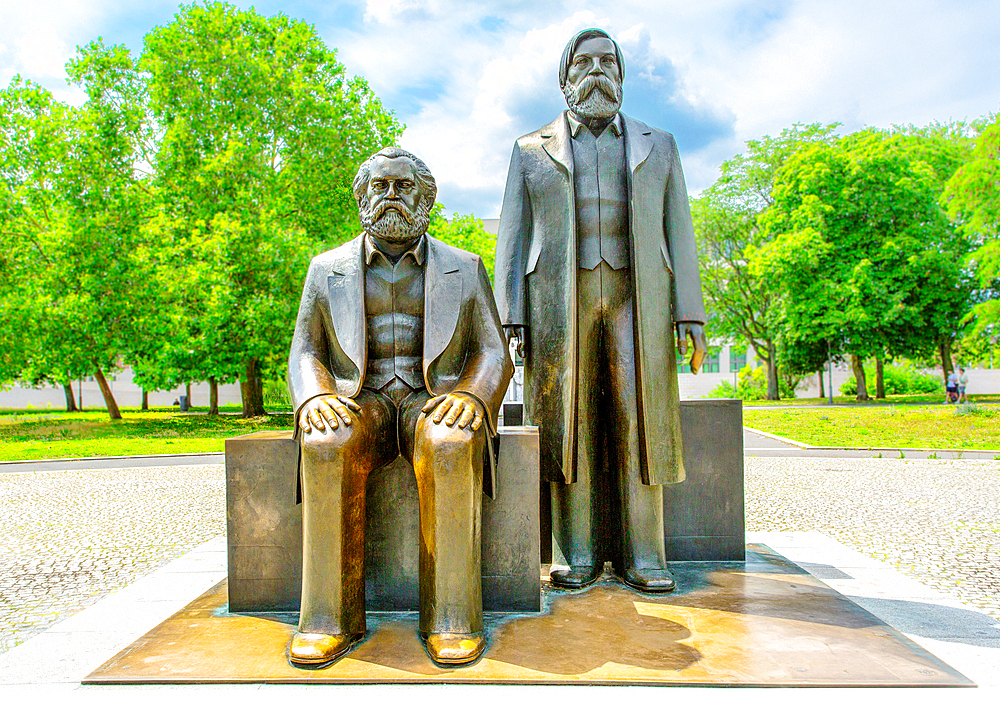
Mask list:
[[[288,357],[295,415],[318,395],[356,397],[367,367],[364,235],[312,260]],[[423,374],[433,396],[468,393],[486,408],[492,496],[497,415],[514,366],[480,258],[427,236]],[[296,427],[298,422],[296,422]],[[296,429],[297,431],[297,429]]]

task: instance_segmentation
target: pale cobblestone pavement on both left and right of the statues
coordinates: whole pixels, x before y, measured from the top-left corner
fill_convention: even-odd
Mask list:
[[[747,458],[747,529],[820,531],[1000,619],[1000,462]],[[225,534],[222,466],[0,474],[0,652]]]

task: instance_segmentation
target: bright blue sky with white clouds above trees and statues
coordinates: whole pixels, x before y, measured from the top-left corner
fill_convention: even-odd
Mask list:
[[[514,140],[564,109],[567,39],[625,53],[623,111],[677,138],[693,193],[748,139],[796,122],[927,124],[1000,111],[997,0],[235,2],[315,25],[407,129],[449,210],[496,217]],[[134,51],[177,2],[0,0],[0,81],[79,101],[63,66],[98,36]]]

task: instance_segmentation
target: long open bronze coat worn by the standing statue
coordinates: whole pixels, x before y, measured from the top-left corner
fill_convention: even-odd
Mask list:
[[[643,482],[684,479],[675,322],[705,322],[697,247],[674,138],[621,115],[629,188]],[[576,480],[576,204],[564,112],[517,140],[497,239],[497,306],[529,327],[525,410],[540,425],[543,476]]]

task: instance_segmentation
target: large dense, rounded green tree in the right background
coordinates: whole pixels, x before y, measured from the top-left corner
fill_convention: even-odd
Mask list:
[[[950,348],[968,303],[961,237],[937,204],[963,144],[930,138],[868,129],[794,155],[765,216],[773,240],[751,264],[785,290],[784,342],[849,354],[858,399],[864,359]]]

